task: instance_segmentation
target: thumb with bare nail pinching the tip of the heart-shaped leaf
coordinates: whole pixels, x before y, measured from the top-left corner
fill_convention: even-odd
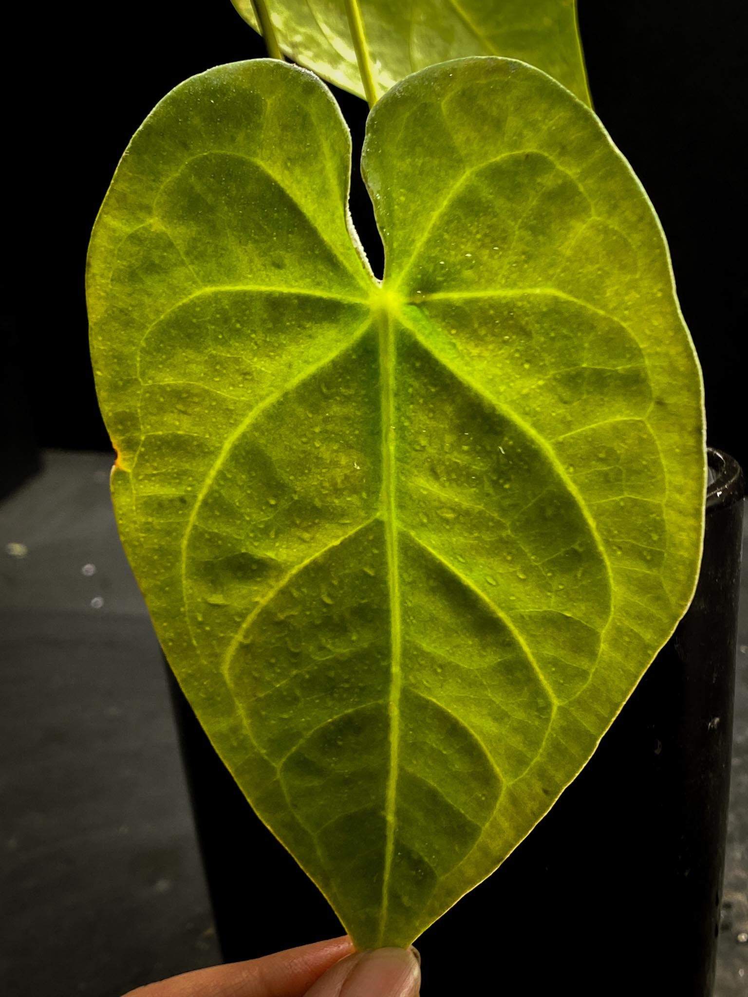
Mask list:
[[[412,949],[356,952],[335,963],[306,997],[418,997],[421,968]]]

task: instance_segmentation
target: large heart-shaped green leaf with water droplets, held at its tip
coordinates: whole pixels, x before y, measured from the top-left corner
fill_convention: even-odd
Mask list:
[[[303,70],[188,80],[118,168],[89,300],[159,636],[369,947],[587,761],[689,601],[705,468],[662,232],[587,108],[494,58],[393,88],[364,151],[381,285],[349,156]]]

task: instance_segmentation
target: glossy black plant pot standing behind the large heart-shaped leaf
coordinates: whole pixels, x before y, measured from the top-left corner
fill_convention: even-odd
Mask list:
[[[423,997],[712,994],[744,482],[718,451],[709,468],[688,612],[548,817],[418,940]],[[341,933],[171,686],[225,961]]]

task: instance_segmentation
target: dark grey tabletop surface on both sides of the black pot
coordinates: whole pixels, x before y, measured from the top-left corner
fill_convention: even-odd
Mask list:
[[[111,463],[49,452],[0,504],[4,997],[119,997],[219,961],[159,645],[112,515]],[[745,567],[738,643],[716,997],[748,994]],[[660,913],[677,923],[677,911]]]

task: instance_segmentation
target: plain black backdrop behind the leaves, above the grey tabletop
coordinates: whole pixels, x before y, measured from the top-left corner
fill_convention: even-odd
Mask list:
[[[745,466],[743,0],[579,0],[579,14],[597,113],[670,242],[704,368],[709,442]],[[18,217],[6,241],[12,279],[3,315],[12,404],[26,407],[43,446],[106,448],[83,292],[98,206],[161,97],[209,66],[262,55],[262,43],[229,0],[26,4],[8,38],[6,58],[19,57],[4,102],[14,132],[6,211]],[[340,99],[360,145],[365,105]],[[378,236],[355,182],[354,219],[376,271]]]

